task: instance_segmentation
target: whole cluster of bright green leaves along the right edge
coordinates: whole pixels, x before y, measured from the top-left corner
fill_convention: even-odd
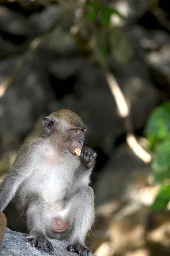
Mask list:
[[[155,152],[152,172],[161,189],[151,206],[153,210],[164,209],[170,200],[170,101],[153,111],[147,122],[145,133],[150,149]]]

